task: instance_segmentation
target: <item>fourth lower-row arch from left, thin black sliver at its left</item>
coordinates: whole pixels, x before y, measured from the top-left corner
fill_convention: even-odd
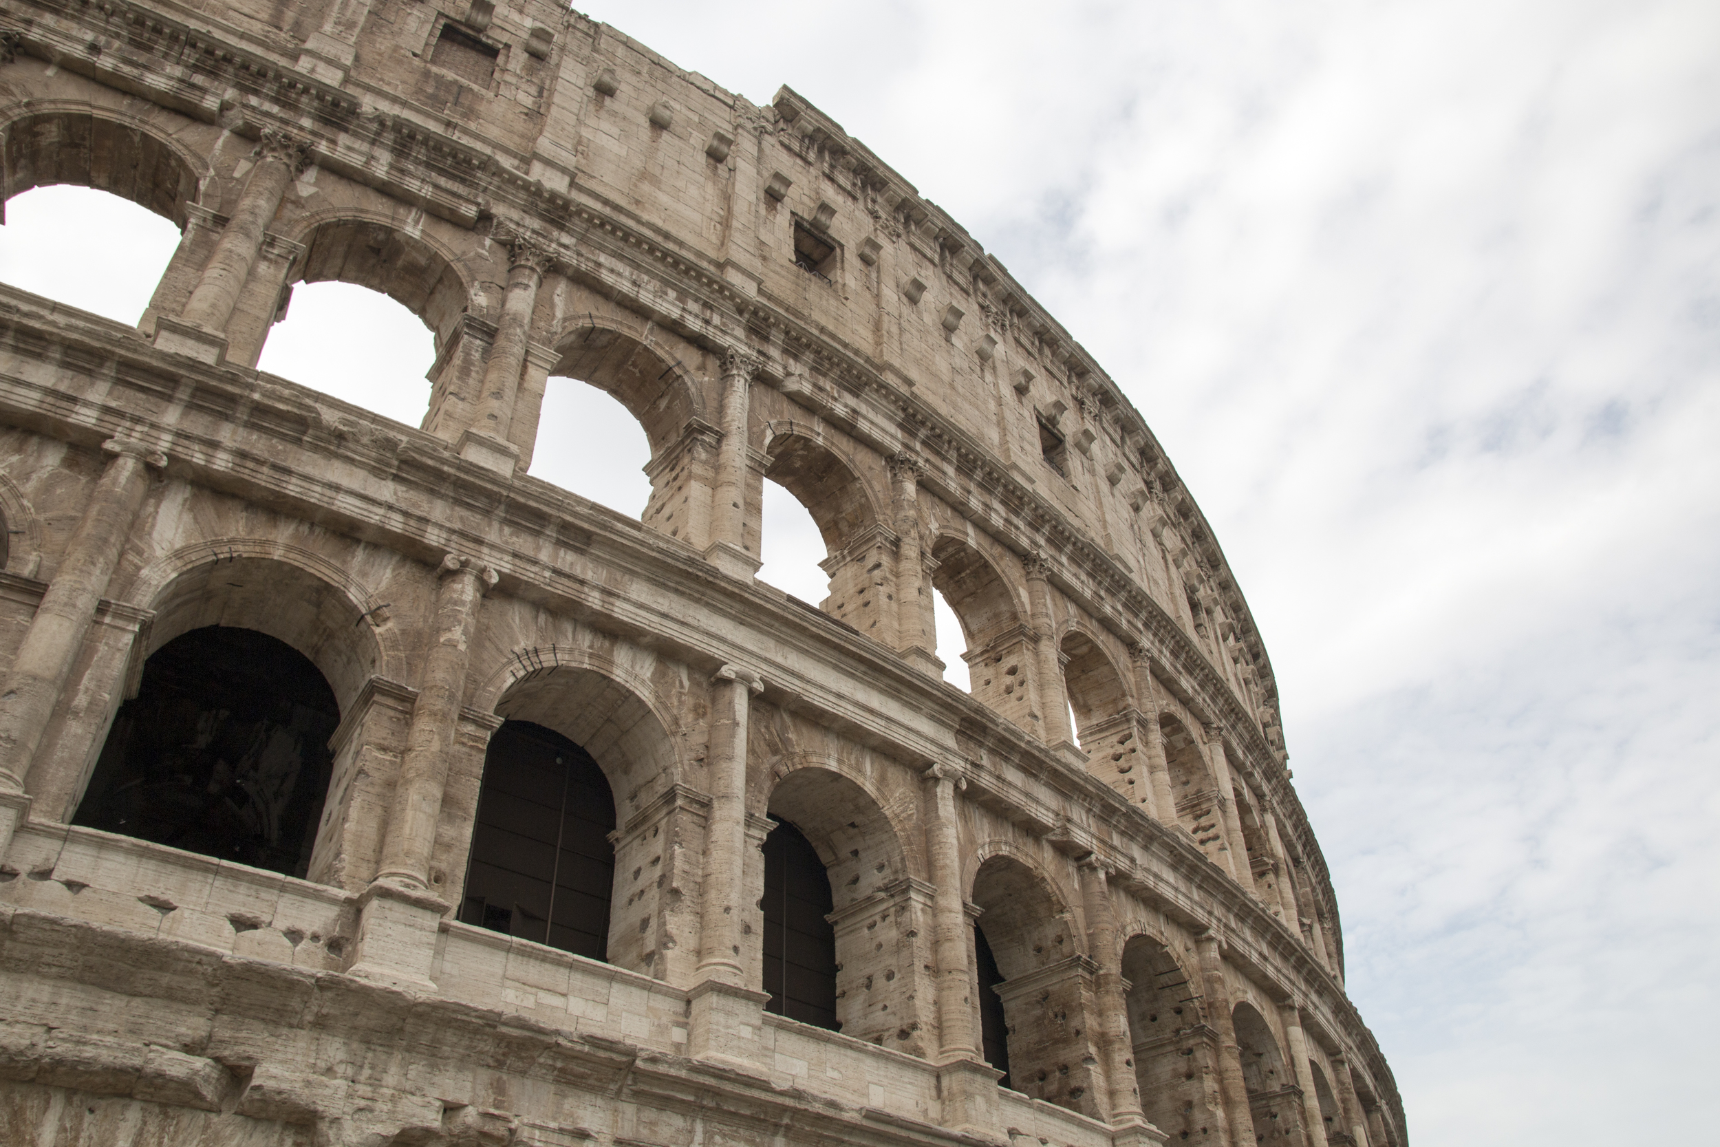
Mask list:
[[[991,856],[979,867],[974,903],[980,908],[975,966],[980,966],[984,935],[1003,977],[991,991],[1003,1004],[1006,1068],[1001,1070],[1008,1070],[1010,1087],[1097,1114],[1092,1075],[1097,1054],[1084,1008],[1092,987],[1063,905],[1039,874],[1006,855]]]

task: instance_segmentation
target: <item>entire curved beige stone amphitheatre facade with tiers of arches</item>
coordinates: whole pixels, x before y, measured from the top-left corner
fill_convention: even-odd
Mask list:
[[[1201,511],[836,122],[547,0],[0,60],[5,196],[182,230],[136,327],[0,287],[0,1138],[1407,1144]],[[433,330],[421,428],[255,370],[318,280]],[[642,521],[526,475],[576,383]]]

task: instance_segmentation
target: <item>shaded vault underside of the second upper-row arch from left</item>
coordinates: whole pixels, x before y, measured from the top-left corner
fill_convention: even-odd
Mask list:
[[[437,349],[466,310],[466,287],[454,267],[428,242],[382,224],[320,225],[306,244],[299,280],[380,291],[435,332]]]

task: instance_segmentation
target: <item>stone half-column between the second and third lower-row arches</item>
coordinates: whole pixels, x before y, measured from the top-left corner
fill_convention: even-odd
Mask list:
[[[705,831],[703,906],[698,923],[698,978],[731,987],[745,982],[741,917],[746,913],[746,722],[757,674],[724,666],[712,679],[710,825]],[[753,898],[757,899],[757,898]]]

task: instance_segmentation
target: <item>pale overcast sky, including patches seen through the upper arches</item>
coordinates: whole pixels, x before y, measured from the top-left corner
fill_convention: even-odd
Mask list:
[[[1417,1147],[1710,1140],[1720,5],[870,7],[592,15],[793,86],[1133,399],[1271,652]],[[9,205],[0,279],[134,320],[55,194]],[[172,229],[115,225],[146,297]],[[342,291],[301,287],[263,366],[416,423],[427,332]],[[535,473],[638,512],[643,437],[580,397],[545,433],[617,452]],[[810,523],[767,533],[822,597]]]

